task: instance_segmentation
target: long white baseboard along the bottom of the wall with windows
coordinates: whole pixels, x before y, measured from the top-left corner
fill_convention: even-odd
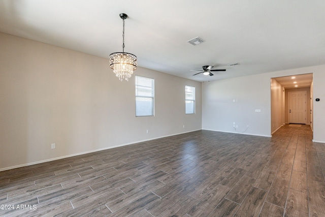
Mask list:
[[[136,144],[136,143],[139,143],[139,142],[146,142],[146,141],[150,141],[150,140],[154,140],[154,139],[160,139],[160,138],[165,138],[165,137],[169,137],[169,136],[176,136],[176,135],[190,133],[190,132],[199,131],[199,130],[202,130],[202,129],[192,130],[192,131],[186,131],[186,132],[176,133],[176,134],[171,134],[171,135],[166,135],[166,136],[160,136],[160,137],[155,137],[155,138],[140,140],[140,141],[136,141],[136,142],[129,142],[129,143],[125,143],[125,144],[120,144],[120,145],[115,145],[115,146],[110,146],[110,147],[105,147],[105,148],[100,148],[100,149],[95,149],[95,150],[90,150],[90,151],[84,151],[84,152],[75,153],[75,154],[69,154],[67,156],[61,156],[61,157],[57,157],[57,158],[51,158],[51,159],[47,159],[47,160],[43,160],[43,161],[36,161],[36,162],[27,163],[27,164],[20,164],[20,165],[16,165],[16,166],[12,166],[12,167],[0,168],[0,172],[1,171],[5,171],[5,170],[11,170],[11,169],[19,168],[19,167],[26,167],[26,166],[30,166],[30,165],[41,164],[41,163],[55,161],[55,160],[60,160],[60,159],[64,159],[64,158],[75,157],[75,156],[79,156],[79,155],[86,154],[86,153],[91,153],[91,152],[96,152],[96,151],[102,151],[102,150],[107,150],[107,149],[111,149],[111,148],[117,148],[117,147],[126,146],[126,145],[132,145],[132,144]]]

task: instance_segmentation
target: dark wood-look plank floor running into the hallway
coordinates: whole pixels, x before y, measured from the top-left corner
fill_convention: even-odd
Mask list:
[[[325,144],[196,131],[0,172],[1,216],[325,216]]]

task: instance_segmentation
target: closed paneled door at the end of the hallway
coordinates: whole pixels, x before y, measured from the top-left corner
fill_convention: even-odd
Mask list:
[[[289,123],[306,124],[306,91],[289,92]]]

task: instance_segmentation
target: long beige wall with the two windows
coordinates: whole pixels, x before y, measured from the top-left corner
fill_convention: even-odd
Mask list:
[[[0,170],[202,128],[200,82],[139,67],[155,79],[155,116],[135,117],[134,76],[119,81],[108,59],[3,33],[0,48]]]

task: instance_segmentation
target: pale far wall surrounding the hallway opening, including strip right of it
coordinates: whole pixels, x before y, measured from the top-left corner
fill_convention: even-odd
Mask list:
[[[248,125],[245,134],[271,136],[270,79],[307,73],[313,73],[313,141],[325,143],[325,65],[204,82],[202,128],[237,133],[236,122],[239,132]],[[316,98],[320,101],[315,102]]]

